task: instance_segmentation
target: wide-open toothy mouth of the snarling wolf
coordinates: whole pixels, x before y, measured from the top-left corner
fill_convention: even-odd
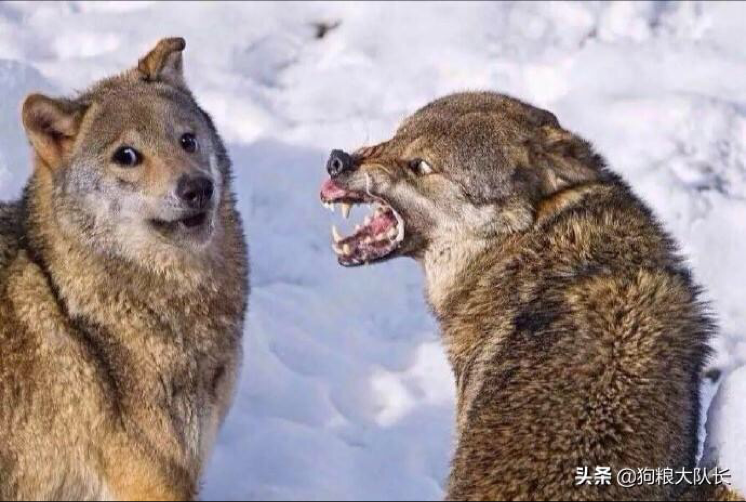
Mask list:
[[[341,235],[332,226],[332,249],[341,265],[352,267],[380,261],[399,249],[404,240],[404,221],[383,199],[345,190],[330,179],[321,187],[321,203],[331,211],[339,204],[344,218],[349,217],[354,205],[367,204],[372,208],[350,236]]]

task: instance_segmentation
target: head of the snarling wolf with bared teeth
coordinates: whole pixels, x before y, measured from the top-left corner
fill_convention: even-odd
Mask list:
[[[519,232],[554,194],[604,175],[601,159],[553,114],[488,92],[434,101],[384,143],[335,150],[327,170],[324,204],[345,213],[377,206],[354,235],[334,231],[347,266]]]

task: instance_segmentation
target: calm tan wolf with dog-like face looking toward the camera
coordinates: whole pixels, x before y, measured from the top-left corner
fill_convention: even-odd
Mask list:
[[[183,39],[32,95],[0,205],[0,499],[187,500],[232,400],[248,295],[230,161]]]

